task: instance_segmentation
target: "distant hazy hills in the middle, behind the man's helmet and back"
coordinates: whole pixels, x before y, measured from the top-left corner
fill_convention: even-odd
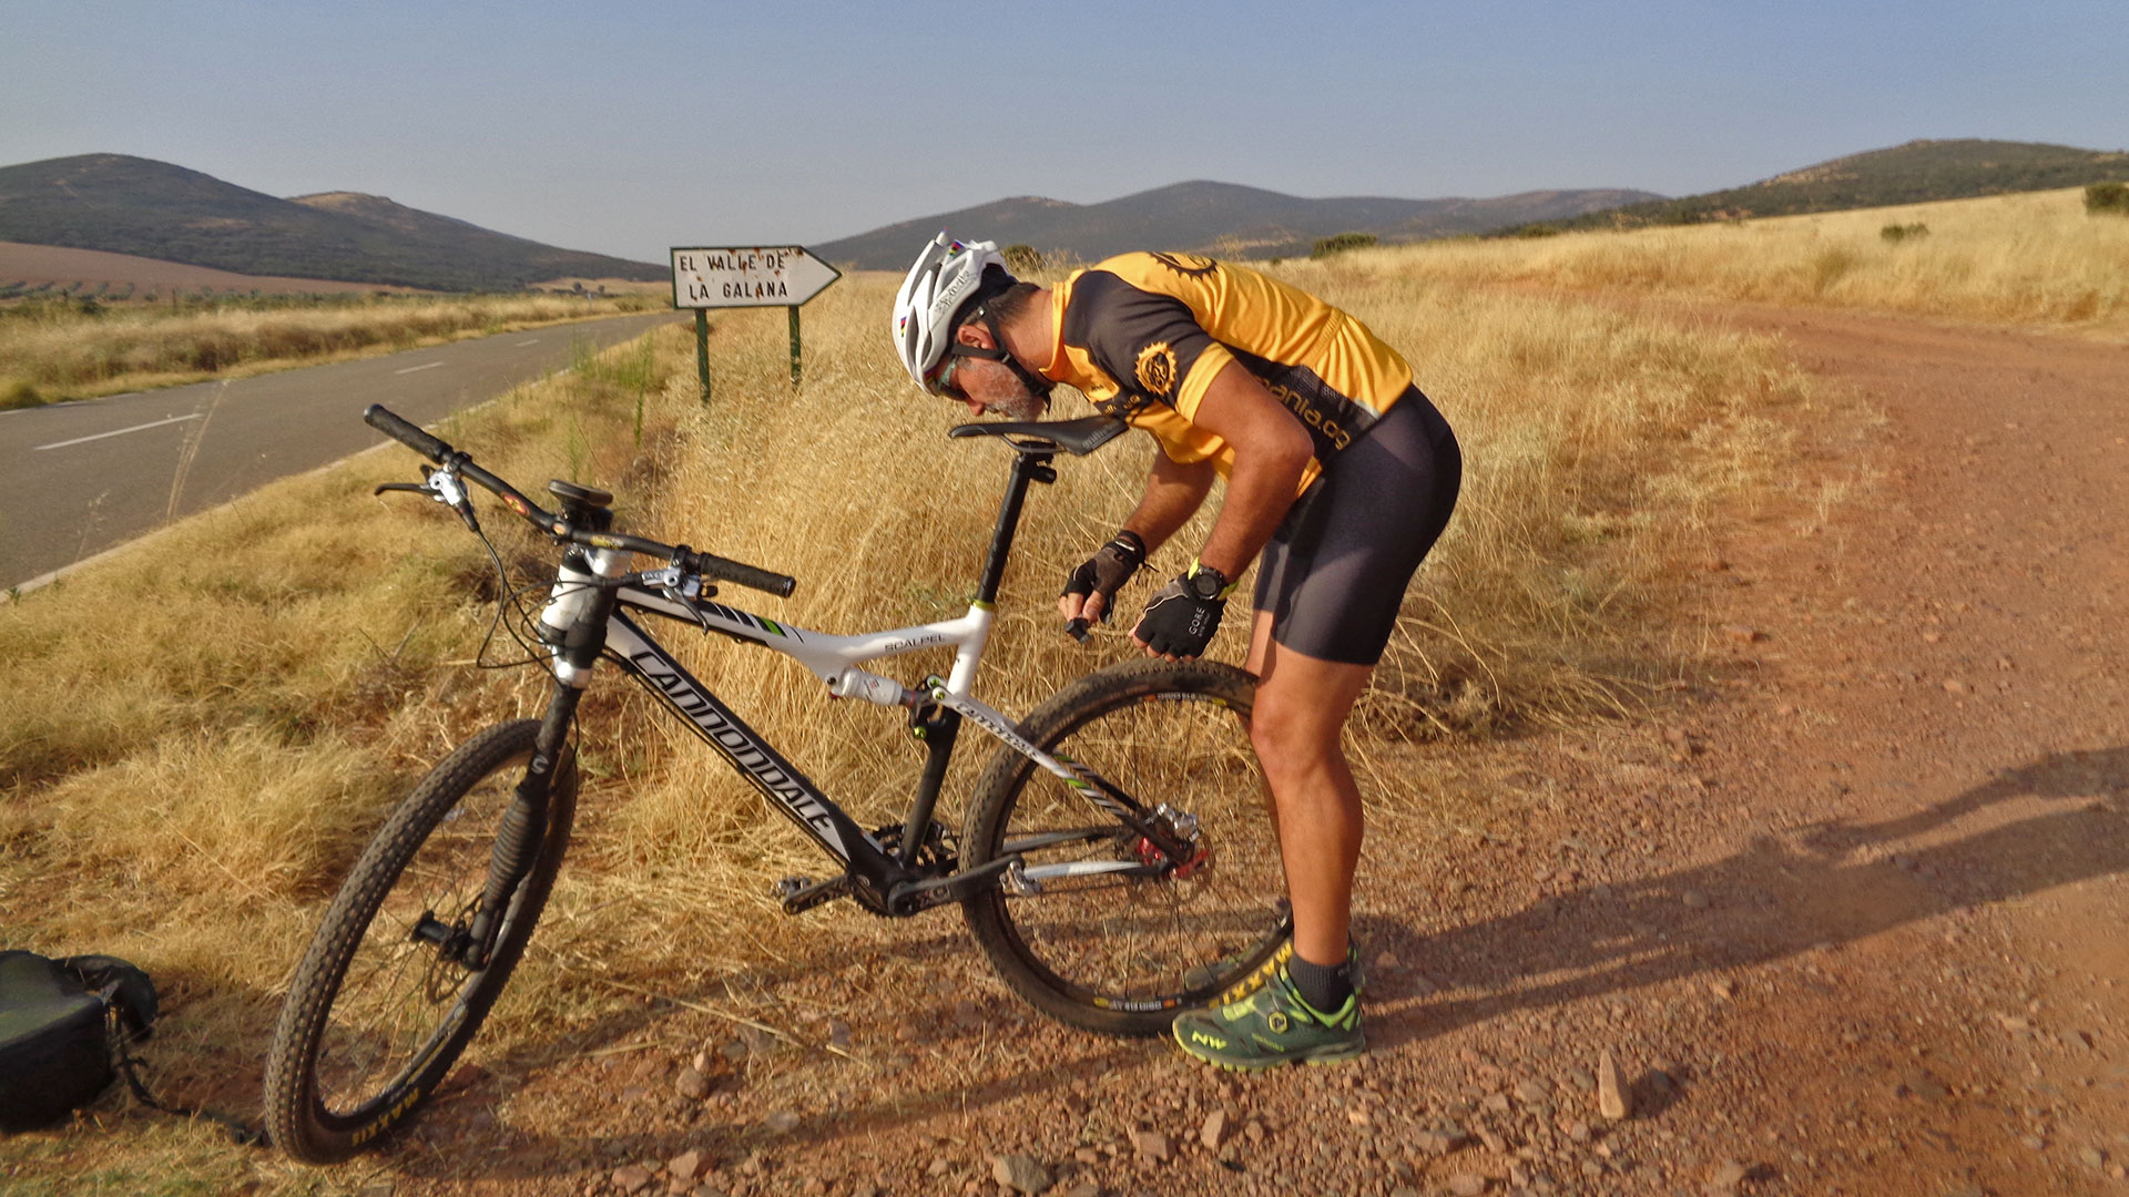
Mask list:
[[[1086,262],[1126,249],[1207,249],[1231,258],[1280,258],[1307,253],[1318,239],[1339,232],[1422,241],[1486,232],[1503,224],[1567,219],[1648,198],[1654,194],[1582,190],[1524,192],[1490,200],[1382,196],[1309,200],[1235,183],[1192,181],[1099,204],[1018,196],[905,219],[809,249],[828,262],[860,270],[901,270],[926,236],[950,228],[999,245],[1033,245],[1043,253],[1064,253]]]

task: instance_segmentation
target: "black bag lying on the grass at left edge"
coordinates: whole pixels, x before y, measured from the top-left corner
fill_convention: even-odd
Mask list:
[[[155,984],[126,961],[0,952],[0,1131],[94,1101],[123,1037],[147,1037],[151,1022]]]

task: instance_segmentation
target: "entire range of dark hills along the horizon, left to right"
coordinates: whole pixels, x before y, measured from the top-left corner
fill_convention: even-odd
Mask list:
[[[1452,234],[1637,228],[1754,215],[1957,200],[2129,179],[2129,153],[2018,141],[1912,141],[1805,166],[1746,187],[1663,198],[1633,190],[1524,192],[1486,200],[1380,196],[1309,200],[1235,183],[1175,183],[1099,204],[1018,196],[813,243],[835,264],[901,270],[947,228],[1099,262],[1124,249],[1224,258],[1307,253],[1324,236],[1386,243]],[[198,170],[85,153],[0,168],[0,241],[134,253],[243,275],[432,290],[517,290],[564,277],[669,277],[658,262],[556,249],[381,196],[275,198]],[[4,283],[6,279],[0,279]]]

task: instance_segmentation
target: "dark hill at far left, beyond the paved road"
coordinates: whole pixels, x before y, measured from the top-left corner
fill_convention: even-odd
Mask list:
[[[0,239],[134,253],[241,275],[517,290],[566,275],[662,279],[666,266],[556,249],[383,196],[283,200],[211,175],[83,153],[0,168]]]

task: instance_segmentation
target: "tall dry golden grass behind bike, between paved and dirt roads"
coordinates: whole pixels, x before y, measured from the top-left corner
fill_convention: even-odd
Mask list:
[[[1284,270],[1405,349],[1467,452],[1458,515],[1363,709],[1365,760],[1401,739],[1631,707],[1690,658],[1693,635],[1671,620],[1680,562],[1784,460],[1771,415],[1816,403],[1771,343],[1475,292],[1369,258]],[[720,319],[707,409],[692,339],[662,330],[649,349],[524,388],[443,434],[519,486],[609,486],[624,526],[794,573],[788,603],[726,592],[773,618],[860,630],[958,613],[1005,454],[945,441],[964,413],[903,379],[881,337],[892,285],[849,277],[807,307],[796,392],[783,315],[737,313]],[[1030,496],[986,701],[1026,711],[1126,656],[1118,633],[1094,652],[1067,641],[1052,598],[1130,509],[1150,452],[1133,437],[1067,460],[1058,486]],[[392,447],[275,483],[0,607],[11,944],[113,950],[175,986],[187,1029],[179,1076],[255,1067],[287,969],[366,829],[451,743],[539,705],[537,671],[464,665],[492,613],[479,545],[432,505],[368,498],[375,481],[413,469]],[[500,509],[485,522],[507,560],[541,560]],[[1188,528],[1156,569],[1179,567],[1201,537],[1203,524]],[[860,818],[898,809],[920,754],[896,714],[828,703],[764,652],[686,630],[669,639]],[[1241,656],[1235,628],[1214,656]],[[888,671],[939,665],[905,658]],[[634,1001],[613,982],[698,986],[803,956],[818,937],[898,933],[843,914],[786,922],[769,882],[818,871],[820,858],[620,682],[594,690],[583,726],[579,843],[477,1050],[549,1044]],[[941,818],[958,820],[988,750],[973,733],[964,741]],[[1377,811],[1405,822],[1426,818],[1426,797],[1416,773],[1377,769],[1369,788]],[[930,927],[952,933],[950,918]],[[75,1180],[164,1152],[230,1182],[336,1184],[253,1165],[181,1127],[102,1148],[32,1137],[6,1152],[66,1157],[49,1171]]]

